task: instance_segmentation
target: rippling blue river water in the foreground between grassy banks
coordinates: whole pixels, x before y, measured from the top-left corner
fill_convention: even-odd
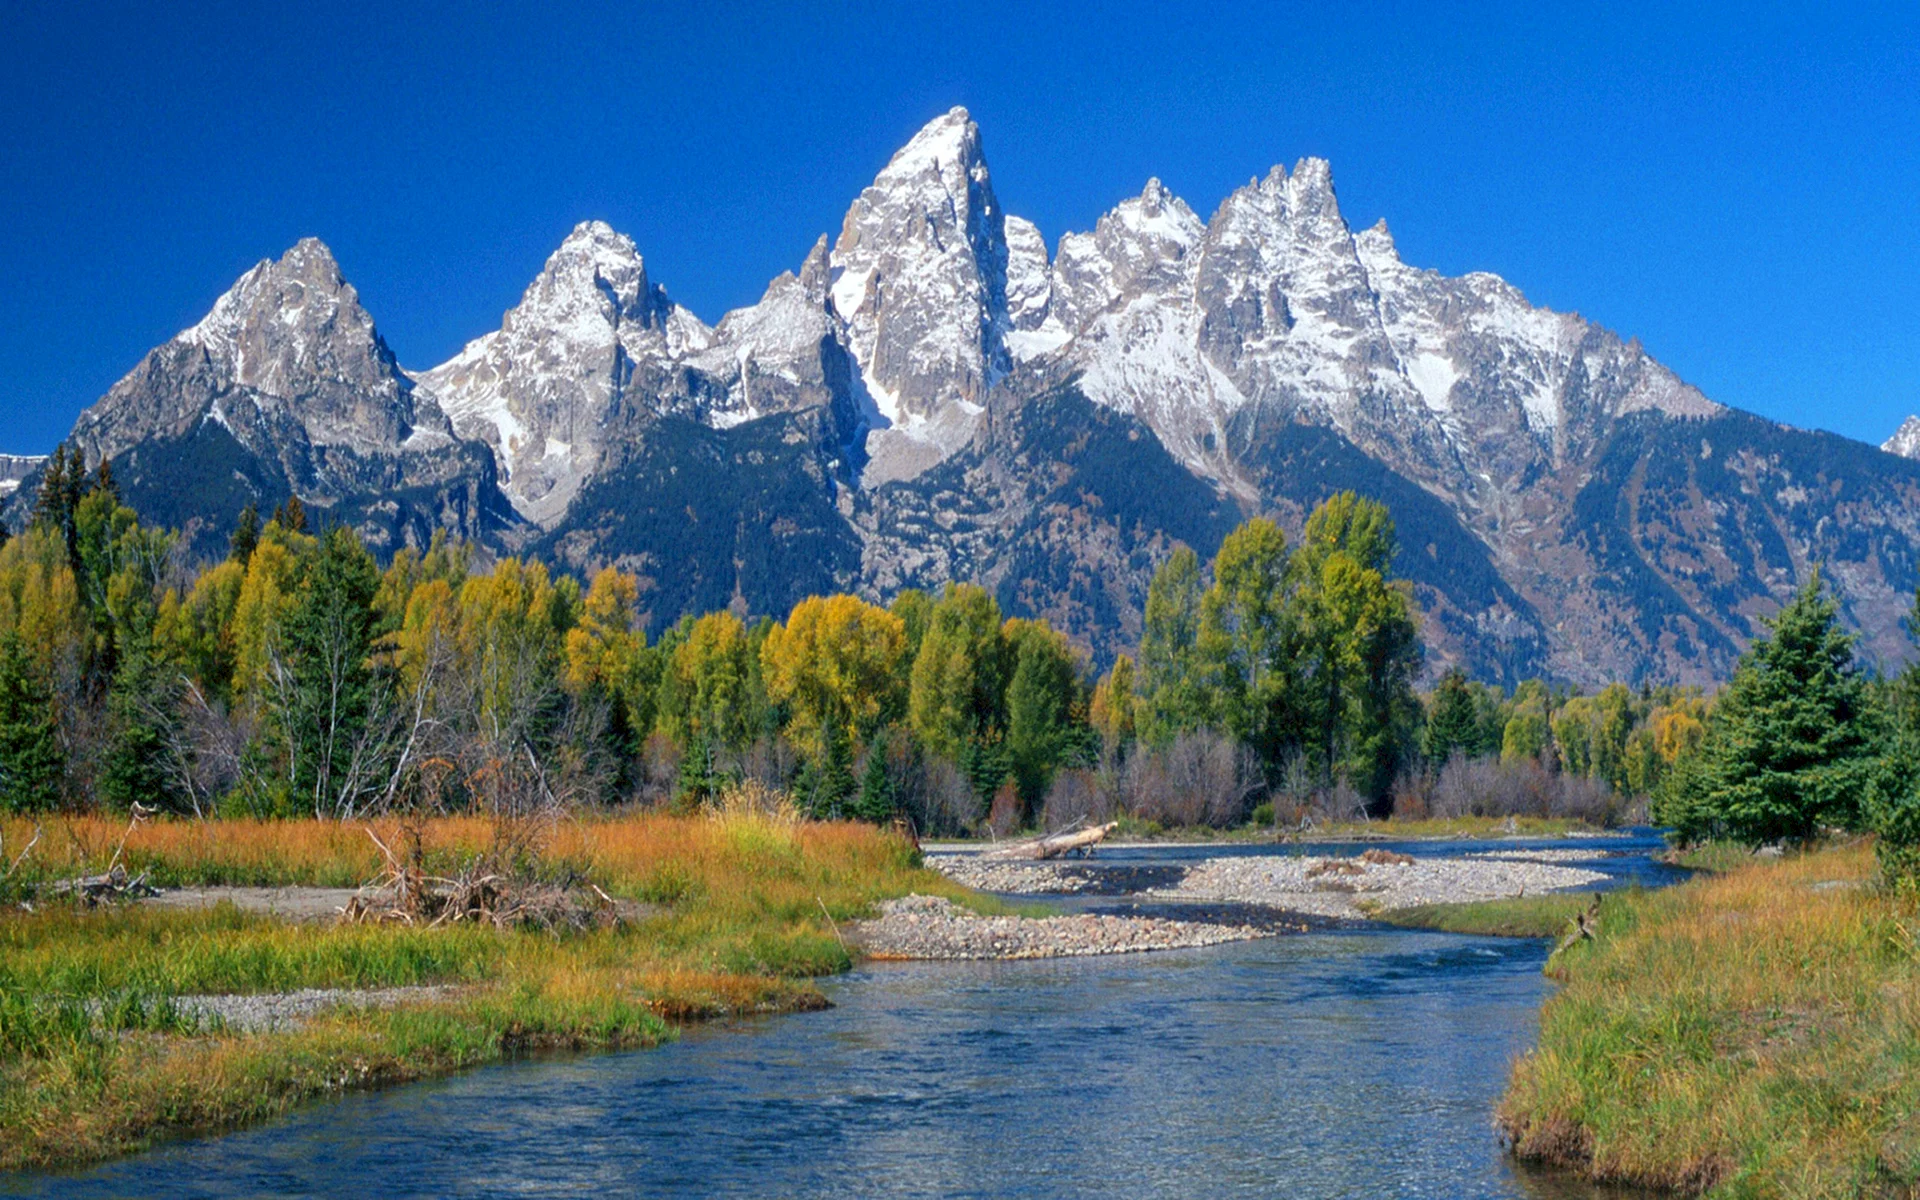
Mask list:
[[[1546,954],[1361,927],[872,964],[826,981],[828,1012],[346,1096],[0,1192],[1596,1196],[1515,1167],[1492,1131]]]

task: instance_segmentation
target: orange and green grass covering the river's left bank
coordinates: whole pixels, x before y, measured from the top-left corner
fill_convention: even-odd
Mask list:
[[[407,837],[376,822],[388,845]],[[6,858],[33,837],[0,822]],[[428,862],[482,852],[482,820],[419,826]],[[359,826],[52,818],[13,885],[123,862],[167,885],[351,885],[382,864]],[[824,1004],[851,962],[837,925],[910,891],[993,908],[868,826],[730,814],[564,824],[541,852],[637,925],[555,937],[492,927],[294,925],[236,912],[0,914],[0,1169],[73,1165],[180,1133],[259,1121],[326,1092],[419,1079],[532,1048],[645,1046],[682,1021]],[[169,996],[455,985],[396,1010],[300,1029],[200,1027]]]

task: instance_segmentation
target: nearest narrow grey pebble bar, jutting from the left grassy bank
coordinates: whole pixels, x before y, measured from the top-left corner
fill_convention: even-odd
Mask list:
[[[885,900],[849,927],[874,958],[1062,958],[1215,947],[1275,933],[1271,924],[1183,922],[1156,916],[979,916],[943,897]]]

